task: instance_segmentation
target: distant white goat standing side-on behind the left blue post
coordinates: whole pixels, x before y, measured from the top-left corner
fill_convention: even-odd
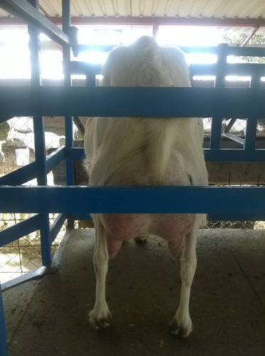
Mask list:
[[[62,145],[65,144],[65,136],[59,136],[56,135],[53,132],[44,132],[45,135],[45,150],[48,150],[50,148],[58,148]],[[16,132],[14,130],[9,130],[6,141],[13,141],[14,139],[17,139],[23,144],[33,150],[35,152],[35,144],[34,144],[34,133],[33,132],[28,132],[26,134],[23,134],[21,132]]]

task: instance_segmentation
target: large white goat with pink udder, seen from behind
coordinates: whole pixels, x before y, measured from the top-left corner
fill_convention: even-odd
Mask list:
[[[160,47],[151,37],[109,53],[105,86],[190,86],[188,66],[177,48]],[[192,105],[192,103],[190,103]],[[203,125],[198,118],[90,117],[85,131],[85,166],[92,186],[204,186]],[[188,337],[190,286],[196,268],[196,238],[205,214],[93,214],[96,246],[96,300],[90,323],[109,325],[105,300],[108,260],[122,241],[154,234],[168,241],[173,256],[185,237],[181,258],[180,305],[171,322],[173,333]]]

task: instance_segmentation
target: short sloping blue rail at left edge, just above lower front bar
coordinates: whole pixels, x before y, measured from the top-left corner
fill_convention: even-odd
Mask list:
[[[0,185],[21,185],[36,178],[36,162],[16,169],[16,171],[0,177]]]

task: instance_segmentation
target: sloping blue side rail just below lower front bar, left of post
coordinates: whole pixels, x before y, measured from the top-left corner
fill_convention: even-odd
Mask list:
[[[12,211],[9,211],[12,212]],[[30,218],[20,221],[13,226],[7,227],[0,231],[0,246],[4,246],[20,239],[22,236],[31,234],[31,232],[38,230],[39,216],[31,216]]]

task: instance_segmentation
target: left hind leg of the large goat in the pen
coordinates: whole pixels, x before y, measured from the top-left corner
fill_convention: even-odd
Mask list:
[[[106,234],[99,216],[94,215],[96,246],[94,250],[94,271],[97,278],[96,300],[90,312],[90,323],[94,329],[107,328],[111,314],[105,298],[106,276],[109,254],[107,251]]]

